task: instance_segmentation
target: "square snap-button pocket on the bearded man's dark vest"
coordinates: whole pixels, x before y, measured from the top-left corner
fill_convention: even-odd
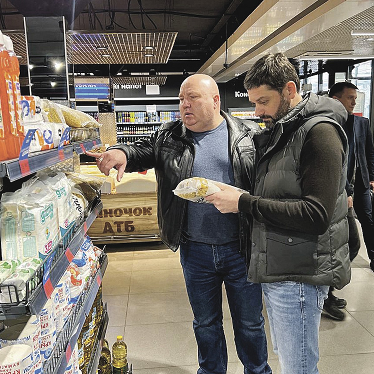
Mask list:
[[[266,233],[267,275],[316,275],[318,236]]]

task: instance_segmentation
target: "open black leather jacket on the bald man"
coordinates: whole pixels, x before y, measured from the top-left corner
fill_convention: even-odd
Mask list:
[[[229,151],[237,187],[251,190],[254,164],[252,135],[259,129],[257,123],[239,120],[221,111],[229,129]],[[116,144],[127,156],[126,172],[154,168],[158,185],[157,218],[161,239],[173,251],[177,251],[187,200],[174,195],[177,184],[191,177],[195,149],[190,131],[181,121],[165,123],[150,137],[133,145]],[[246,254],[249,217],[240,213],[240,252]]]

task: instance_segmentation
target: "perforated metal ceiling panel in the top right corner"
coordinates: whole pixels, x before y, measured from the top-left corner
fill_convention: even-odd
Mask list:
[[[374,30],[374,7],[364,10],[340,24],[323,31],[286,52],[289,57],[310,51],[351,51],[352,56],[374,54],[374,41],[369,36],[352,36],[352,30]]]

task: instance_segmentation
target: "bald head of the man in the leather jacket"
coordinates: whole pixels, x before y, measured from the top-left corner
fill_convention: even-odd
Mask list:
[[[212,77],[205,74],[187,77],[181,84],[179,99],[181,119],[191,131],[208,131],[222,122],[220,92]]]

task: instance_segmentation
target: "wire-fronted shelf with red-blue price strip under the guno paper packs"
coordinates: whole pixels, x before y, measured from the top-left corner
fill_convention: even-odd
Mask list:
[[[15,295],[10,298],[11,303],[0,304],[0,320],[14,319],[21,314],[39,314],[43,306],[48,300],[48,291],[56,286],[61,276],[69,266],[71,260],[76,255],[78,249],[85,240],[85,234],[92,222],[95,220],[99,211],[102,209],[102,202],[97,197],[88,206],[85,211],[85,218],[83,214],[78,218],[77,222],[71,229],[62,237],[57,247],[51,254],[43,261],[40,267],[36,270],[33,276],[26,282],[26,297],[25,300],[18,300],[18,290],[16,286],[1,286],[1,292],[8,292],[9,295]],[[54,256],[54,257],[53,257]],[[53,259],[49,269],[49,288],[43,285],[43,276],[47,271],[48,262]],[[16,300],[14,300],[16,298]]]

